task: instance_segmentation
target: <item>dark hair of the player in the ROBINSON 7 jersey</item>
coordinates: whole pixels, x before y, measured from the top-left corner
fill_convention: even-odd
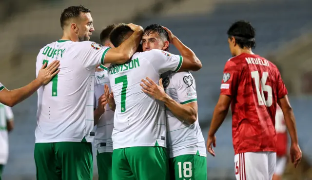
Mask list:
[[[118,47],[123,41],[127,39],[126,35],[134,32],[127,24],[118,24],[111,32],[109,39],[115,47]]]

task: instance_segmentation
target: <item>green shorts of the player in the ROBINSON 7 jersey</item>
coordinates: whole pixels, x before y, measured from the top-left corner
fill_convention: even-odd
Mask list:
[[[169,180],[164,147],[129,147],[113,152],[113,180]]]

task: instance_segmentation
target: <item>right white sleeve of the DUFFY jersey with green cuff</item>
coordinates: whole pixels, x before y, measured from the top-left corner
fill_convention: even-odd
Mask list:
[[[78,53],[85,68],[95,68],[96,65],[104,65],[105,55],[111,47],[102,46],[92,41],[78,42]]]

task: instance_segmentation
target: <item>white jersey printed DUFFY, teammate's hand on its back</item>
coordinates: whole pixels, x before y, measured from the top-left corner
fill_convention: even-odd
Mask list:
[[[37,56],[42,63],[60,60],[60,72],[38,90],[36,142],[92,142],[95,68],[104,64],[108,47],[92,41],[58,40]]]

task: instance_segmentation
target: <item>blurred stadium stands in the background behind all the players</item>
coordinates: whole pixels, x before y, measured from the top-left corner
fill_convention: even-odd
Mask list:
[[[312,180],[312,0],[0,0],[0,81],[18,88],[35,79],[39,49],[59,40],[59,17],[71,5],[92,10],[93,41],[107,25],[133,22],[168,27],[189,46],[203,67],[193,73],[199,122],[206,138],[217,102],[222,71],[231,58],[226,31],[235,20],[256,28],[254,53],[273,61],[290,93],[303,161],[287,165],[284,180]],[[177,53],[171,47],[171,52]],[[15,129],[3,180],[35,180],[33,158],[37,94],[13,107]],[[234,180],[231,113],[218,130],[216,157],[207,155],[209,180]],[[94,153],[95,154],[95,153]],[[96,158],[94,173],[97,180]]]

